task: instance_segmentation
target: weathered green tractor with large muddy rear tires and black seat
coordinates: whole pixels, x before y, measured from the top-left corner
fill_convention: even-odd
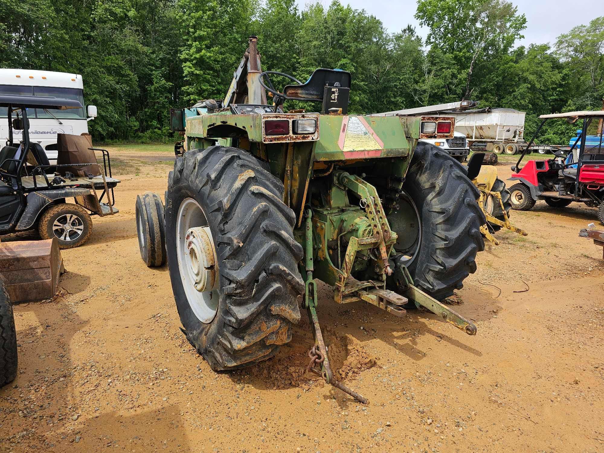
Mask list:
[[[277,91],[273,74],[294,83]],[[309,370],[363,401],[333,379],[315,279],[336,303],[395,316],[424,307],[475,335],[440,301],[476,270],[485,218],[464,167],[418,143],[420,118],[347,114],[350,82],[333,69],[306,83],[262,72],[251,37],[224,100],[172,111],[182,155],[165,207],[140,196],[137,223],[147,264],[167,257],[182,330],[211,368],[271,358],[303,307],[315,338]],[[286,100],[321,112],[286,113]]]

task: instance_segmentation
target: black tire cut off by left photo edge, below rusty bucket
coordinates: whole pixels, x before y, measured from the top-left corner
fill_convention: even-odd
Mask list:
[[[14,329],[13,307],[4,283],[0,281],[0,387],[17,375],[17,333]]]

